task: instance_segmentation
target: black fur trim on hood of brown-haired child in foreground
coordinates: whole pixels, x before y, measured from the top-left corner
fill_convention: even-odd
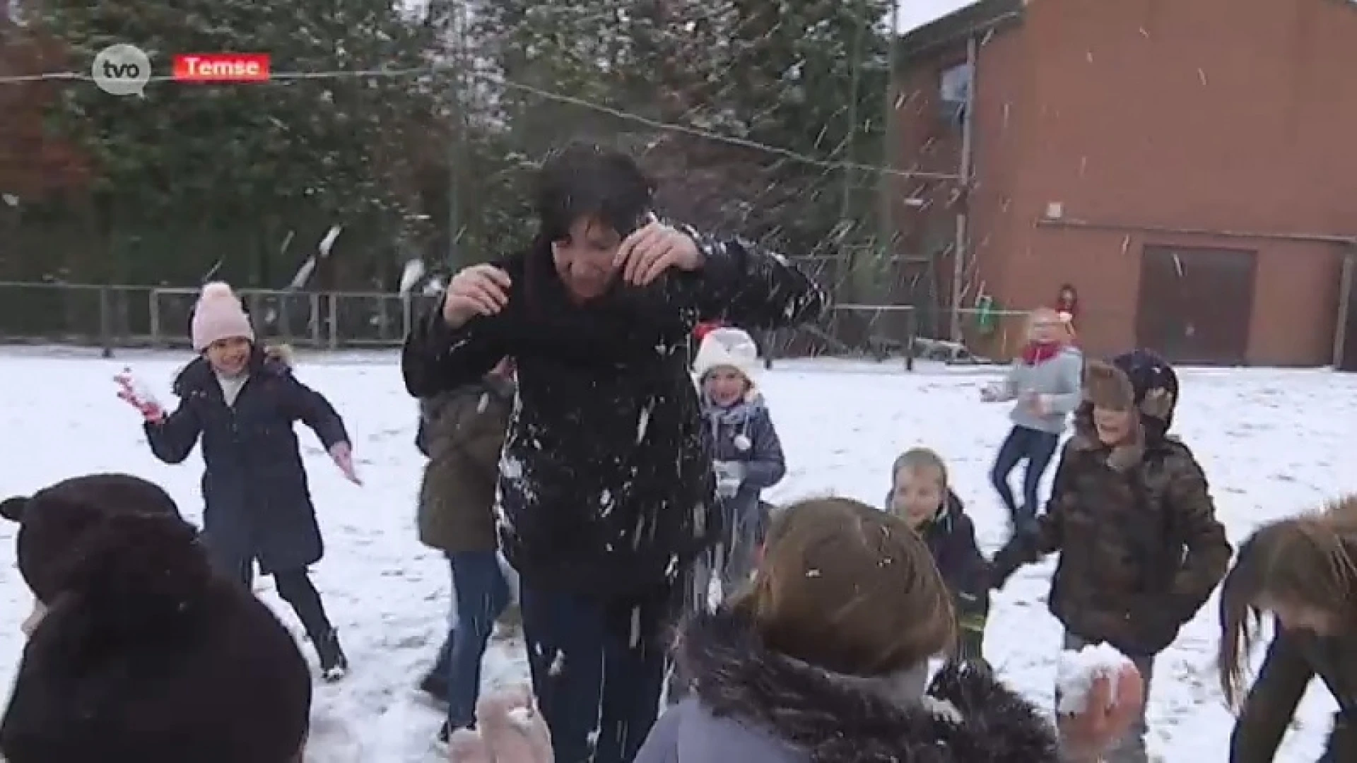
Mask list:
[[[889,680],[830,673],[775,653],[745,618],[723,610],[687,623],[678,665],[702,710],[691,720],[734,721],[753,737],[779,740],[782,752],[771,749],[769,760],[786,759],[787,748],[811,763],[1058,759],[1054,729],[974,664],[949,664],[927,695],[909,701],[885,690]]]

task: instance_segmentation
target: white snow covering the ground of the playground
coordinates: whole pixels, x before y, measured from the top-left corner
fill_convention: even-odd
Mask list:
[[[170,467],[147,449],[133,411],[114,398],[113,375],[130,365],[163,401],[185,361],[176,354],[98,360],[84,352],[0,353],[0,496],[26,493],[91,471],[129,471],[164,485],[198,512],[197,455]],[[365,486],[356,487],[320,451],[303,443],[328,554],[316,578],[354,663],[349,679],[318,690],[309,763],[433,763],[434,711],[413,684],[445,629],[448,572],[415,539],[414,497],[422,459],[414,448],[414,403],[394,354],[311,356],[299,375],[345,415]],[[790,472],[771,498],[845,494],[879,504],[890,462],[927,444],[949,459],[957,489],[992,553],[1003,512],[988,485],[991,458],[1007,430],[1007,406],[977,402],[999,371],[837,361],[787,361],[763,379]],[[1357,376],[1327,371],[1183,372],[1177,430],[1212,479],[1220,517],[1238,542],[1259,523],[1357,490],[1341,466],[1357,430]],[[1016,475],[1015,475],[1016,477]],[[14,569],[12,527],[0,527],[0,569]],[[1060,629],[1045,610],[1050,563],[1026,567],[996,596],[987,652],[1000,673],[1049,707]],[[271,591],[267,601],[290,611]],[[16,573],[0,577],[0,684],[22,650],[19,623],[30,599]],[[1152,748],[1167,763],[1227,759],[1229,715],[1216,690],[1212,600],[1158,663],[1151,692]],[[296,629],[300,633],[300,629]],[[309,646],[307,654],[311,657]],[[313,658],[313,657],[312,657]],[[525,680],[520,645],[499,644],[487,680]],[[1316,682],[1318,683],[1318,682]],[[1312,690],[1278,760],[1314,760],[1331,701]]]

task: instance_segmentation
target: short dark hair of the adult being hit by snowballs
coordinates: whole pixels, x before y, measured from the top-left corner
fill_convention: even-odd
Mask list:
[[[551,153],[537,171],[539,239],[560,242],[581,219],[594,219],[626,236],[645,224],[654,183],[616,149],[573,143]]]

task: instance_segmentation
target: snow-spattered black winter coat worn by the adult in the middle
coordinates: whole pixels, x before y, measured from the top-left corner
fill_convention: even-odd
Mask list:
[[[508,307],[406,338],[406,388],[427,398],[517,362],[501,463],[501,547],[525,581],[624,601],[666,585],[721,529],[710,436],[688,368],[699,319],[748,329],[820,315],[825,295],[778,255],[695,236],[706,262],[574,304],[546,242],[499,261]]]

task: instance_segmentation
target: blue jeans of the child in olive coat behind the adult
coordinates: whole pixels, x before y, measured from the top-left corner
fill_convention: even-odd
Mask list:
[[[456,623],[444,642],[448,656],[448,728],[467,729],[476,724],[480,658],[495,620],[509,606],[509,582],[494,551],[457,551],[446,557],[457,606]]]

